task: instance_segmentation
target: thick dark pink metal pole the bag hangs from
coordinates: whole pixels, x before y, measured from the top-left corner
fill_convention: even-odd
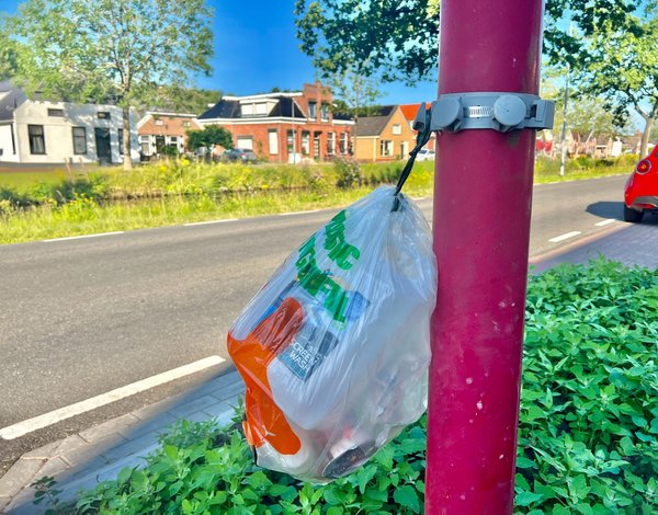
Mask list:
[[[443,0],[439,93],[536,94],[542,0]],[[426,512],[513,504],[535,131],[438,137]]]

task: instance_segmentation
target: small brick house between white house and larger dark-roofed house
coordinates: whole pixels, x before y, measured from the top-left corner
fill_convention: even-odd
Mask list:
[[[188,149],[188,130],[202,127],[193,114],[150,111],[137,123],[139,150],[143,159],[162,153],[164,147],[175,147],[179,153]]]

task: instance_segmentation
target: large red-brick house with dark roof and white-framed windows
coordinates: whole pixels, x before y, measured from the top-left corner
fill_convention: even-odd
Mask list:
[[[219,125],[237,148],[274,162],[328,160],[350,152],[354,122],[332,113],[333,94],[320,83],[302,91],[224,96],[198,123]]]

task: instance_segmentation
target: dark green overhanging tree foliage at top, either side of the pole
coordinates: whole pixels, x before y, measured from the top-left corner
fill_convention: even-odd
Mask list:
[[[582,42],[558,22],[571,12],[585,36],[610,23],[628,27],[627,16],[643,0],[547,0],[544,49],[554,60],[576,59]],[[353,62],[379,72],[385,82],[410,84],[436,69],[439,0],[297,0],[295,15],[302,50],[315,66],[342,72]]]

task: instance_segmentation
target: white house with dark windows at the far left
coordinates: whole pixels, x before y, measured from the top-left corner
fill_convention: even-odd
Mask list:
[[[133,161],[139,160],[131,116]],[[0,82],[0,164],[123,162],[123,112],[116,105],[30,100]]]

